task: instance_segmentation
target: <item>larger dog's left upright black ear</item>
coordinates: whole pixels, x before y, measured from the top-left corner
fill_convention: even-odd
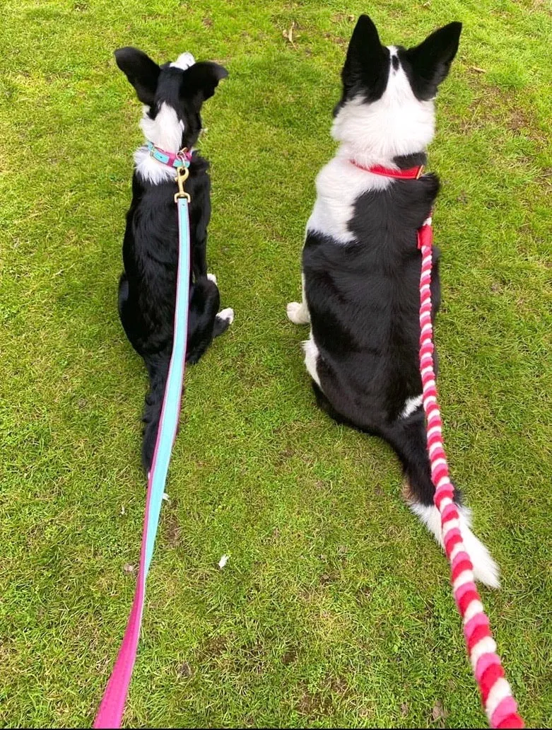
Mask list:
[[[378,31],[368,15],[354,27],[341,79],[345,96],[364,93],[368,101],[379,99],[389,75],[389,51],[381,45]]]

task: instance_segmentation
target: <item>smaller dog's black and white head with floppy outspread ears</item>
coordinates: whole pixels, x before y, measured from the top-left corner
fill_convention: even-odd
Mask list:
[[[116,50],[115,61],[145,105],[141,128],[147,139],[168,152],[190,149],[201,131],[203,101],[213,96],[228,71],[210,61],[196,64],[191,53],[158,66],[132,47]]]

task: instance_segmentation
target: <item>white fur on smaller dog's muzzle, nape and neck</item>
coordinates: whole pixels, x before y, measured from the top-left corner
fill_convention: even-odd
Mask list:
[[[185,71],[195,64],[191,53],[181,53],[171,66]],[[178,118],[172,107],[163,102],[155,119],[148,115],[149,107],[144,106],[144,113],[140,121],[141,131],[149,142],[166,152],[177,153],[182,147],[184,122]],[[136,172],[148,183],[158,185],[172,180],[176,174],[173,169],[156,160],[149,154],[146,145],[142,145],[134,153]]]

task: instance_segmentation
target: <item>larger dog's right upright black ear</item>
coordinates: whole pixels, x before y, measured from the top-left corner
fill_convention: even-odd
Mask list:
[[[448,23],[428,36],[420,45],[409,48],[405,56],[412,64],[416,96],[429,99],[437,93],[458,50],[462,23]]]

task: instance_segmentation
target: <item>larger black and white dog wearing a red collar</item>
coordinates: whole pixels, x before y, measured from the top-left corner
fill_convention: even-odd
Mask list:
[[[311,324],[305,364],[319,406],[392,445],[405,472],[405,498],[441,545],[421,406],[416,235],[439,181],[435,174],[396,180],[359,166],[408,169],[426,163],[435,95],[461,30],[461,23],[450,23],[416,47],[386,47],[372,20],[359,18],[334,111],[332,134],[340,145],[316,179],[306,228],[303,301],[287,306],[292,322]],[[434,257],[436,310],[437,250]],[[458,491],[455,500],[460,502]],[[497,587],[497,566],[470,530],[469,510],[459,511],[475,577]]]

